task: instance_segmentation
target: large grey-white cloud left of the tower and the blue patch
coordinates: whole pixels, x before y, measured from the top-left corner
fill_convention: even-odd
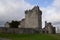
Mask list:
[[[32,6],[25,0],[0,0],[0,26],[7,21],[21,20],[25,17],[24,11]]]

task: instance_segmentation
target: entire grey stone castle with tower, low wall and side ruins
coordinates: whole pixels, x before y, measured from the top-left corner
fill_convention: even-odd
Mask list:
[[[55,27],[49,22],[45,22],[45,27],[42,28],[42,11],[38,6],[31,10],[25,11],[25,18],[21,20],[19,28],[9,28],[7,22],[5,28],[0,28],[3,33],[48,33],[54,34]],[[3,30],[3,31],[2,31]]]

